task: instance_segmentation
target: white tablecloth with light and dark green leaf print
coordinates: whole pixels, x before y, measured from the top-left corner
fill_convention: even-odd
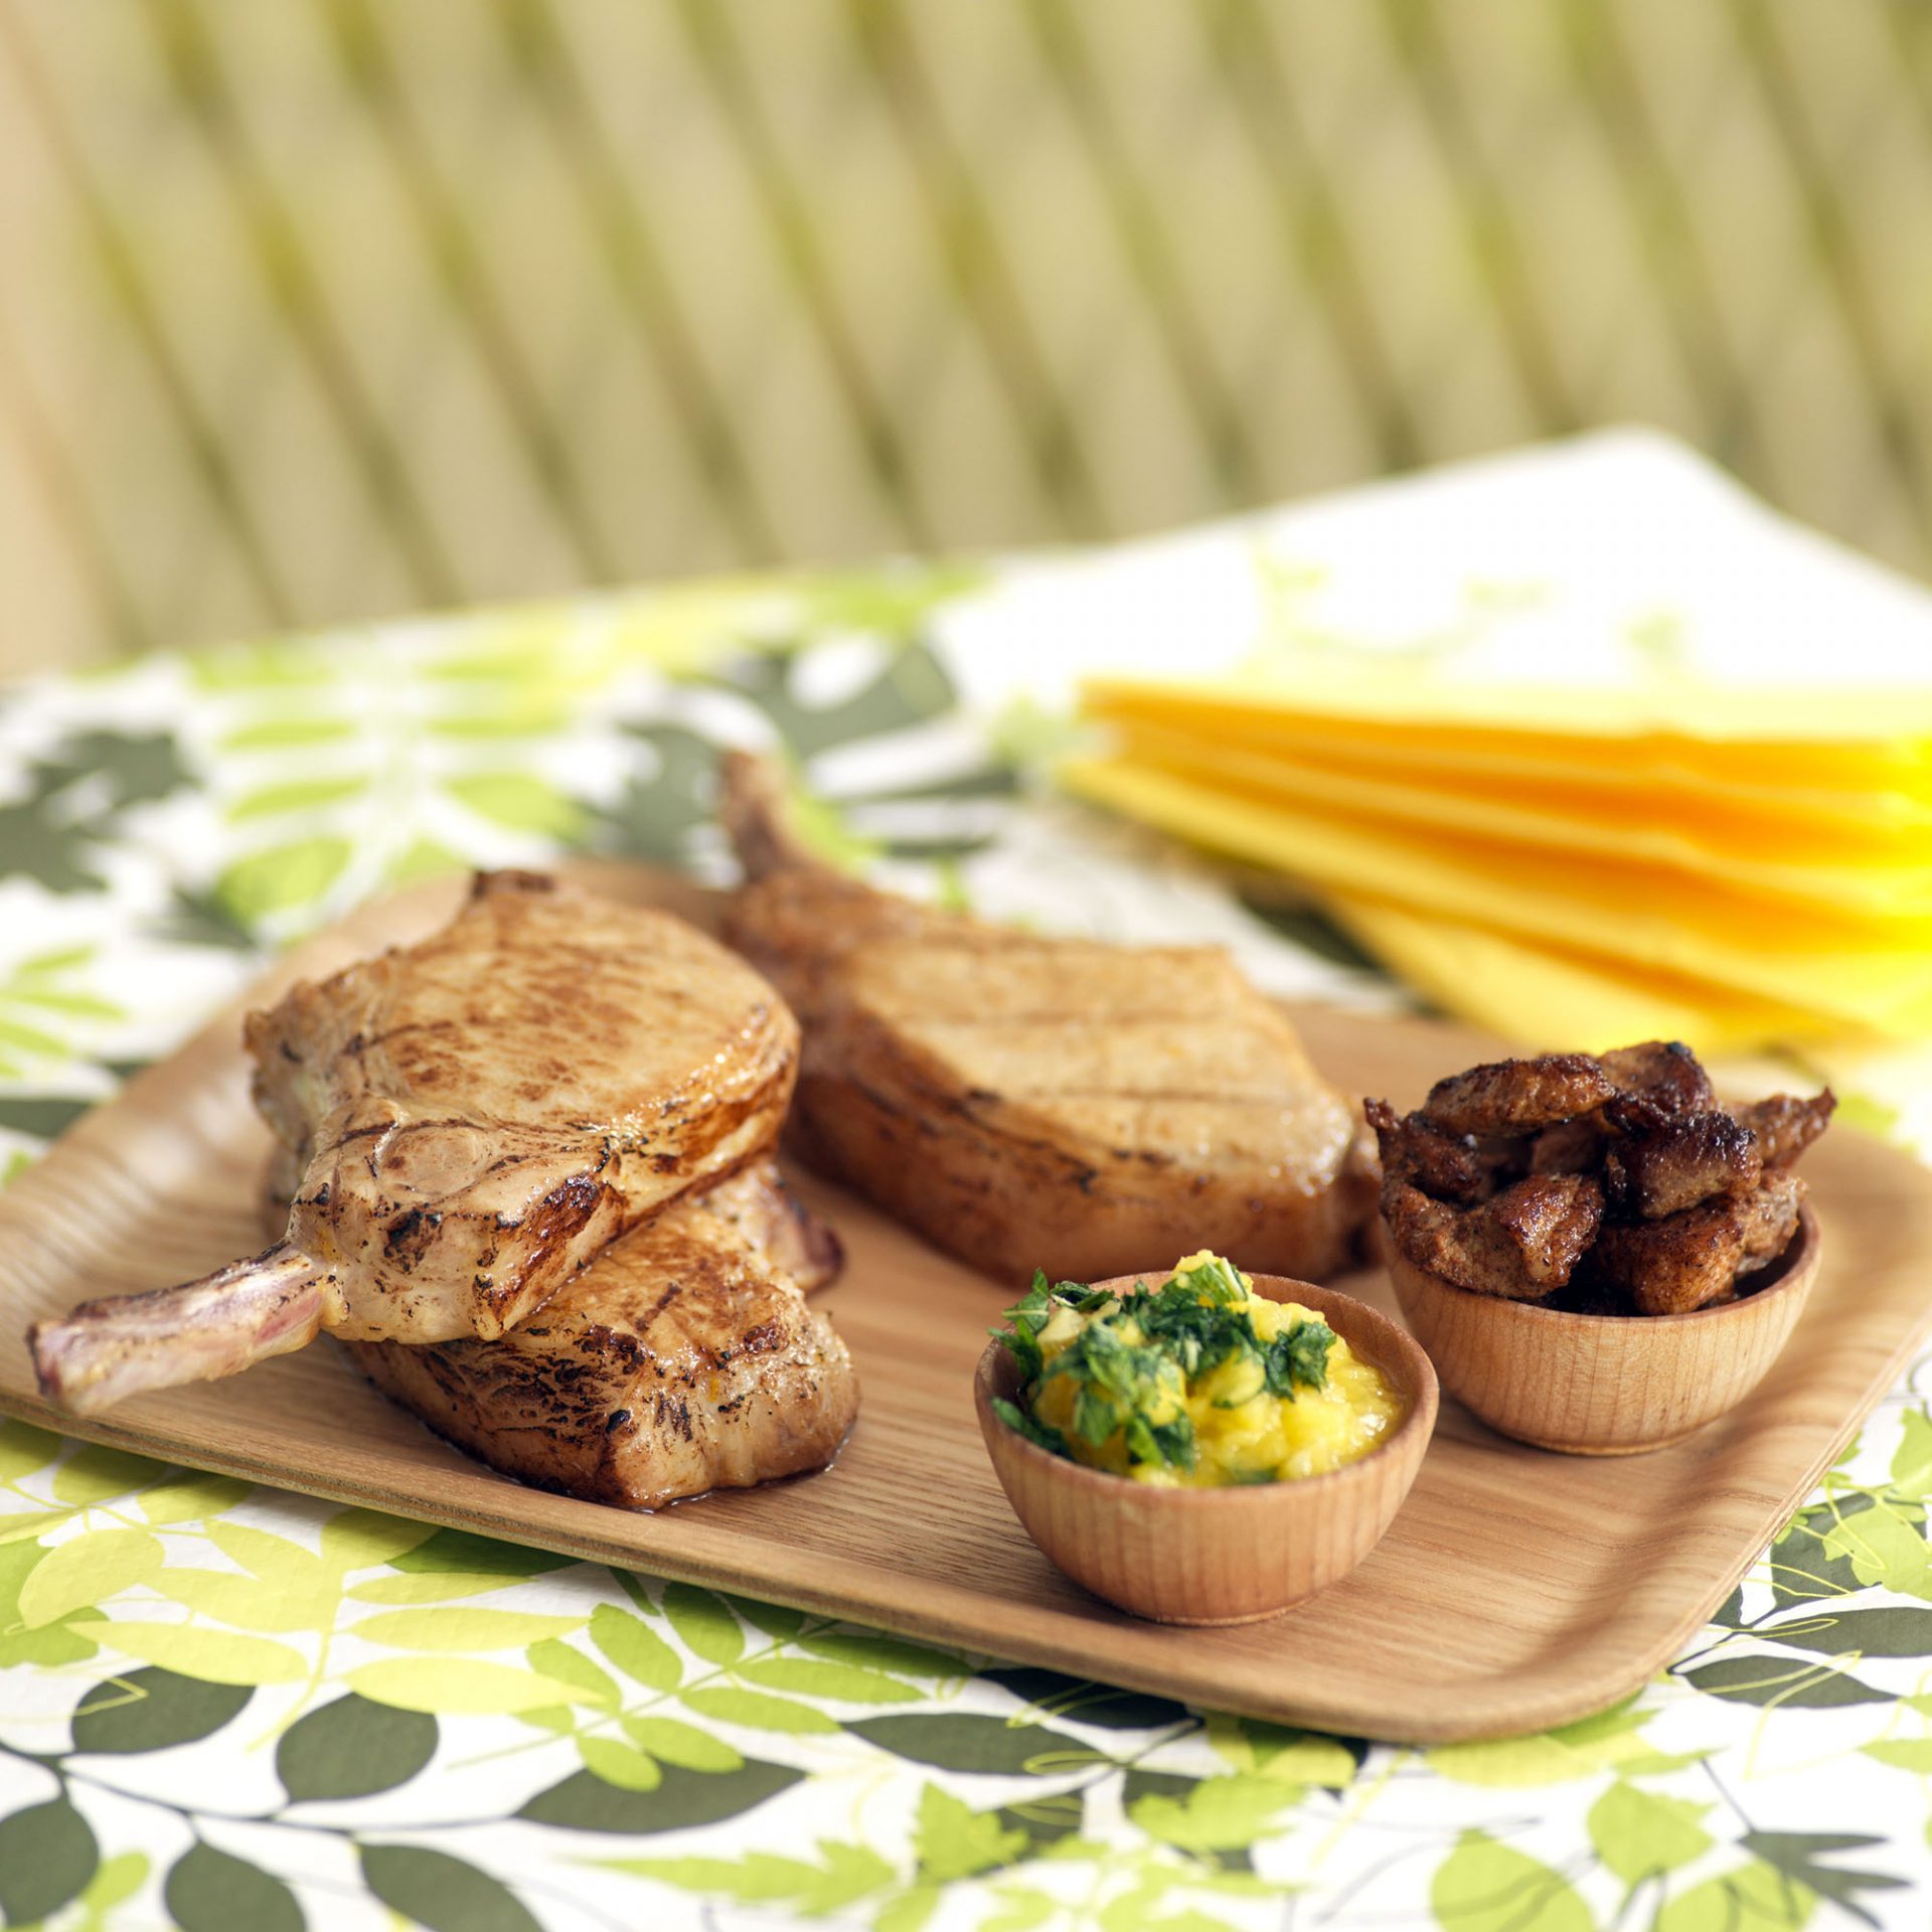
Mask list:
[[[1648,442],[1466,487],[1567,489],[1640,522],[1663,473],[1683,498],[1673,554],[1698,549],[1685,500],[1714,529],[1741,514]],[[1439,516],[1443,485],[1426,489]],[[384,883],[570,848],[724,877],[719,742],[786,746],[821,837],[908,889],[1217,937],[1271,987],[1397,1003],[1321,922],[1246,904],[1036,775],[1082,663],[1151,663],[1163,636],[1188,661],[1252,647],[1256,556],[1320,549],[1331,526],[1360,547],[1364,520],[1387,527],[1405,502],[17,688],[0,699],[0,1171]],[[1750,516],[1783,558],[1787,535]],[[1549,570],[1573,587],[1561,558]],[[1486,609],[1511,609],[1470,597],[1480,572],[1408,580],[1422,601],[1401,622],[1466,647]],[[1578,591],[1565,622],[1609,636],[1642,614],[1605,595]],[[1654,609],[1656,585],[1640,595]],[[1325,620],[1308,647],[1337,638]],[[1849,1072],[1868,1119],[1922,1138],[1915,1057]],[[15,1347],[12,1312],[0,1329]],[[1656,1683],[1561,1731],[1437,1750],[1184,1710],[0,1424],[0,1915],[75,1932],[1922,1926],[1924,1368]]]

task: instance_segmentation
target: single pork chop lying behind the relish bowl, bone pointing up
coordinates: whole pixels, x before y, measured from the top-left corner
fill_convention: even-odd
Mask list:
[[[724,935],[804,1024],[804,1157],[1007,1281],[1194,1246],[1321,1277],[1376,1194],[1349,1103],[1219,951],[1003,931],[811,858],[769,767],[724,761],[748,883]],[[1179,1242],[1179,1246],[1177,1246]]]

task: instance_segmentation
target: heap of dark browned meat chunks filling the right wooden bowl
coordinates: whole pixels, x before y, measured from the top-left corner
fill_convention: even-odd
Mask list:
[[[1517,1300],[1575,1279],[1565,1304],[1605,1314],[1687,1314],[1777,1262],[1804,1200],[1789,1165],[1832,1109],[1824,1092],[1733,1115],[1690,1049],[1663,1039],[1476,1066],[1406,1119],[1366,1103],[1383,1215],[1410,1262]],[[1557,1180],[1573,1192],[1549,1194]]]

